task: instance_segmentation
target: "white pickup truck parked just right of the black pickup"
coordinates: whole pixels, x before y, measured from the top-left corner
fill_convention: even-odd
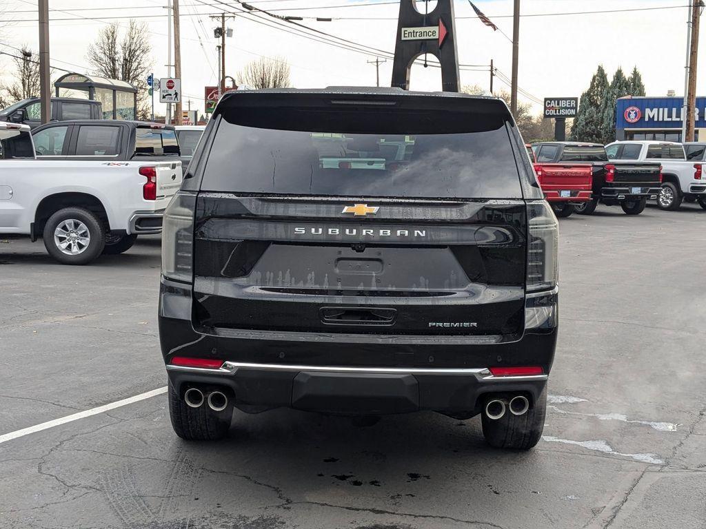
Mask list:
[[[659,209],[675,211],[683,200],[697,201],[706,209],[706,174],[702,159],[687,159],[684,146],[676,142],[620,141],[606,145],[610,160],[635,160],[662,164]]]

